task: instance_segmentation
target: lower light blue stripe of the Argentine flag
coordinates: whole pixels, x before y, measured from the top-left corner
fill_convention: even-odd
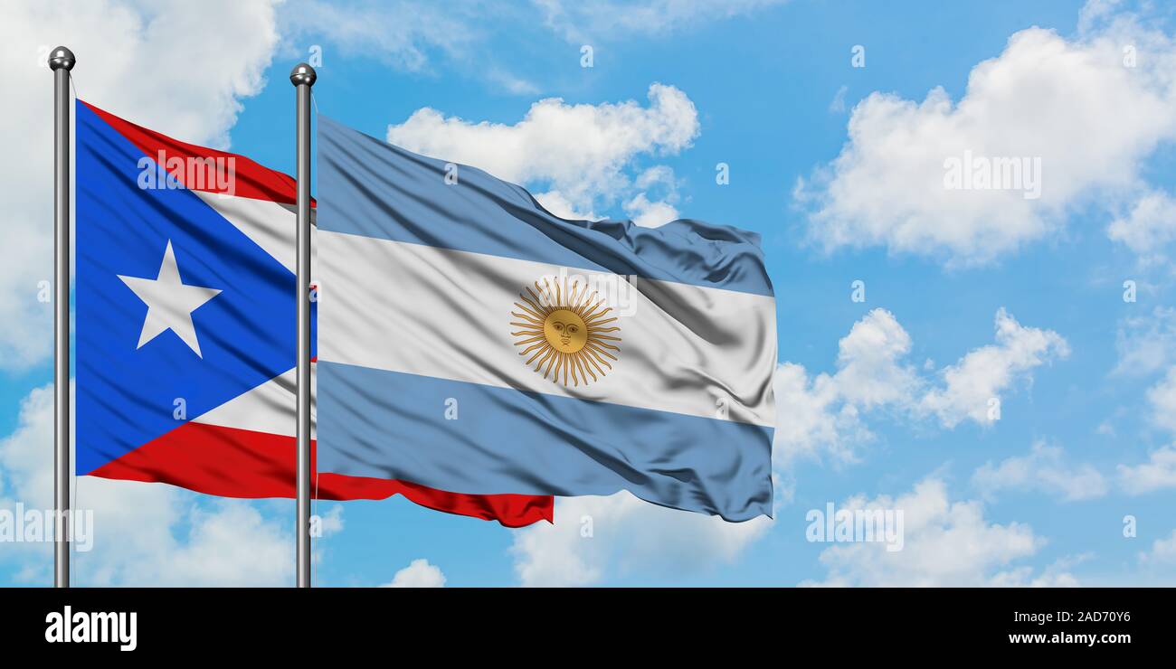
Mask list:
[[[326,361],[318,376],[320,471],[771,514],[770,428]]]

